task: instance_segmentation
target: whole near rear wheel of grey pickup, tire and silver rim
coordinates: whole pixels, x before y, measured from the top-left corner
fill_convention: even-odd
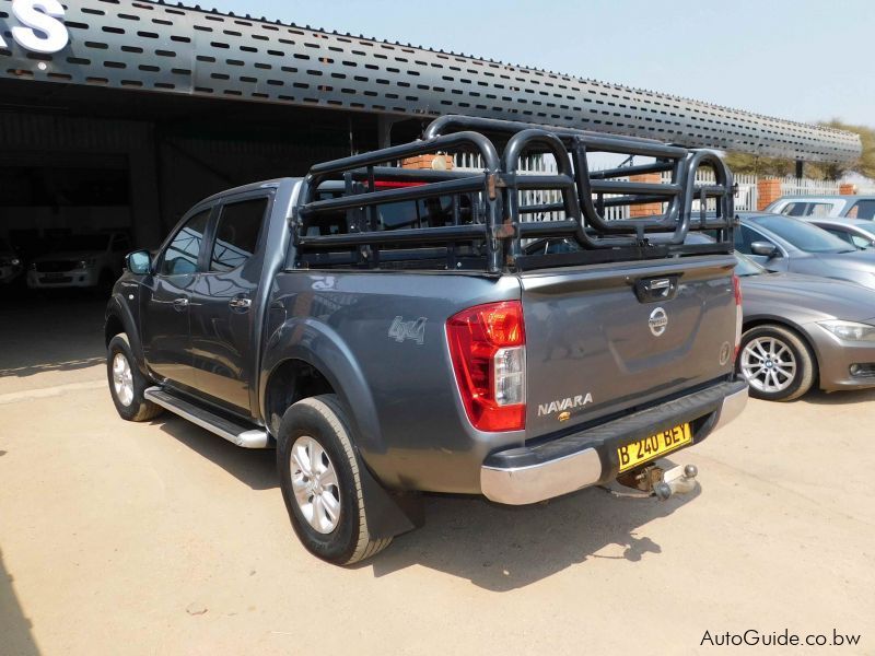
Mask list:
[[[294,403],[277,438],[277,468],[285,507],[301,542],[314,555],[349,565],[388,547],[368,532],[361,462],[336,395]]]

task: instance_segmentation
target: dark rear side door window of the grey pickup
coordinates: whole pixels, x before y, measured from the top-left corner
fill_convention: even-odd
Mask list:
[[[210,256],[210,271],[233,271],[255,254],[267,212],[266,197],[230,202],[222,208]]]

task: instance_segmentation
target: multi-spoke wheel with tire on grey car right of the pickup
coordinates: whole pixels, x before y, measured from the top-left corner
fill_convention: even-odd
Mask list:
[[[791,401],[812,388],[815,359],[795,332],[775,325],[751,328],[742,336],[738,372],[750,395],[770,401]]]

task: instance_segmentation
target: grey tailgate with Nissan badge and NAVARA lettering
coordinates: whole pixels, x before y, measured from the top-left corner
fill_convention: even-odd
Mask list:
[[[526,438],[728,374],[734,266],[727,255],[522,274]]]

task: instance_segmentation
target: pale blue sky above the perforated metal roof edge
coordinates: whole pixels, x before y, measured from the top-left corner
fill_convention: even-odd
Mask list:
[[[875,127],[875,0],[195,1],[779,118]]]

